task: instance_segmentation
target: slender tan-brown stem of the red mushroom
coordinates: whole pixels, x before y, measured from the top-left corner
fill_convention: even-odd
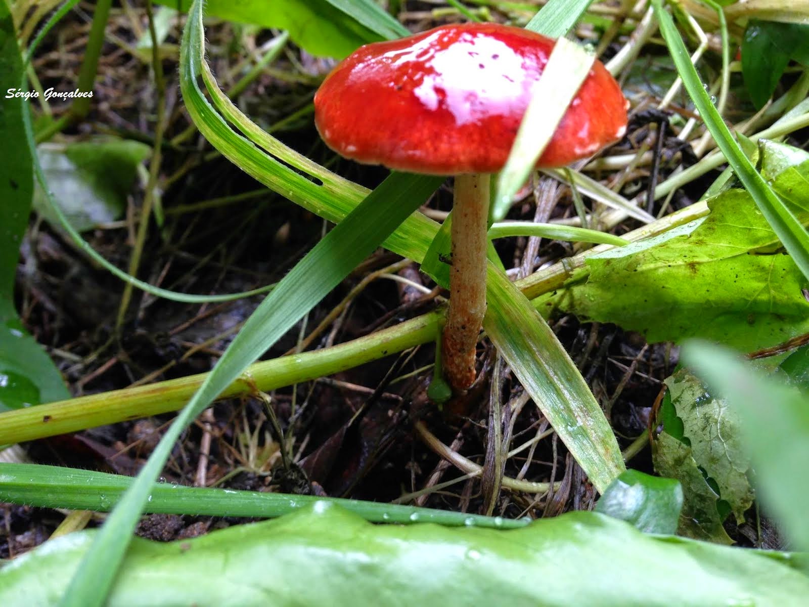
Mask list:
[[[444,370],[455,393],[475,381],[477,336],[486,313],[488,220],[489,174],[455,176],[450,307],[443,333]]]

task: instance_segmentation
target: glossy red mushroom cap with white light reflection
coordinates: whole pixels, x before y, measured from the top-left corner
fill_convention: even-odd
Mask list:
[[[498,172],[555,44],[521,28],[466,23],[363,46],[320,86],[315,124],[332,150],[360,163]],[[596,61],[536,166],[564,166],[620,139],[628,105]]]

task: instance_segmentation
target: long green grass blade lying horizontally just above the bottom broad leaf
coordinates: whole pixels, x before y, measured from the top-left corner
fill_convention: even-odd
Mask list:
[[[116,505],[132,479],[108,474],[34,464],[0,463],[0,502],[24,503],[35,507],[64,507],[70,510],[106,512]],[[374,523],[436,523],[460,527],[524,527],[527,519],[498,519],[464,512],[434,510],[359,499],[324,498],[317,495],[285,495],[258,491],[234,491],[155,483],[152,499],[144,511],[191,516],[283,516],[312,503],[336,503]],[[413,516],[413,515],[416,516]]]

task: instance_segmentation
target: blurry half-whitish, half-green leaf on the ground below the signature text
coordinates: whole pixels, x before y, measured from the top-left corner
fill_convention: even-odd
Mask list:
[[[78,231],[91,230],[124,214],[138,164],[150,151],[145,143],[117,138],[37,147],[51,192]],[[34,208],[54,227],[60,226],[40,189],[36,189]]]

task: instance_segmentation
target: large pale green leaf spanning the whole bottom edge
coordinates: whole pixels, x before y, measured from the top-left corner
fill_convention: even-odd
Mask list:
[[[54,605],[96,535],[71,533],[4,567],[0,604]],[[498,531],[374,525],[317,503],[189,540],[138,538],[108,605],[804,605],[809,578],[790,560],[593,512]]]

